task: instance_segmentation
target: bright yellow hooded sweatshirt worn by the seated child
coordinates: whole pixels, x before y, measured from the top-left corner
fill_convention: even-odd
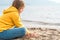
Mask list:
[[[3,11],[3,15],[0,17],[0,32],[11,28],[23,27],[18,10],[11,6]]]

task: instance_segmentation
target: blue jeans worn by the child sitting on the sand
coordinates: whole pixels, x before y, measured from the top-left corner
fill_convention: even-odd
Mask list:
[[[23,37],[26,33],[25,28],[13,28],[0,32],[0,39],[13,39],[16,37]]]

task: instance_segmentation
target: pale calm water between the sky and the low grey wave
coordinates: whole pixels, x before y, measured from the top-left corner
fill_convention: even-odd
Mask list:
[[[8,6],[0,6],[0,15]],[[26,6],[21,14],[22,20],[60,23],[60,6]]]

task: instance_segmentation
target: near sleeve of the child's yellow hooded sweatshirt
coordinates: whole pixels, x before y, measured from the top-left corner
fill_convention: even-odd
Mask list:
[[[23,27],[23,23],[21,22],[21,18],[18,13],[11,14],[12,21],[16,27]]]

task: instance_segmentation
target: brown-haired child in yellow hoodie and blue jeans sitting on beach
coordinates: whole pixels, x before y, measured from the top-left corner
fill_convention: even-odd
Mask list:
[[[22,0],[14,0],[12,6],[3,11],[0,17],[0,39],[12,39],[16,37],[33,37],[36,34],[31,33],[21,22],[20,14],[24,9]]]

